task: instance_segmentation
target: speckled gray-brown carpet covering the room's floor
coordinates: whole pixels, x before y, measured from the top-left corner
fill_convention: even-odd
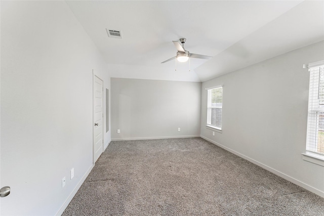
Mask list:
[[[62,215],[324,215],[324,199],[201,138],[111,142]]]

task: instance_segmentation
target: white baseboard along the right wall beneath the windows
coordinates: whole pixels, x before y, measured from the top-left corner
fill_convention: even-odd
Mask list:
[[[213,141],[211,139],[208,139],[207,137],[204,137],[204,136],[200,136],[200,137],[207,140],[207,141],[209,141],[209,142],[211,142],[211,143],[213,143],[213,144],[215,144],[215,145],[217,145],[217,146],[219,146],[219,147],[221,147],[222,149],[225,149],[225,150],[227,150],[227,151],[229,151],[229,152],[231,152],[231,153],[233,153],[233,154],[235,154],[235,155],[237,155],[237,156],[239,156],[241,158],[244,158],[244,159],[250,161],[251,163],[254,163],[254,164],[256,164],[256,165],[258,165],[258,166],[272,172],[273,174],[281,177],[282,179],[290,181],[290,182],[294,183],[295,185],[298,185],[298,186],[300,186],[300,187],[302,187],[302,188],[304,188],[304,189],[306,189],[306,190],[308,190],[308,191],[310,191],[310,192],[312,192],[314,194],[317,194],[318,196],[324,198],[324,191],[320,191],[320,190],[318,190],[316,188],[313,188],[310,185],[307,185],[307,184],[305,184],[305,183],[303,183],[303,182],[301,182],[301,181],[299,181],[299,180],[297,180],[297,179],[295,179],[293,177],[290,177],[290,176],[288,176],[288,175],[286,175],[286,174],[284,174],[284,173],[282,173],[282,172],[280,172],[280,171],[278,171],[276,169],[273,169],[273,168],[271,168],[271,167],[269,167],[269,166],[267,166],[267,165],[265,165],[263,163],[260,163],[260,162],[258,162],[256,160],[254,160],[254,159],[252,159],[252,158],[250,158],[248,156],[245,156],[245,155],[243,155],[241,153],[238,153],[238,152],[236,152],[236,151],[234,151],[234,150],[232,150],[230,148],[227,148],[226,146],[223,146],[223,145],[221,145],[221,144],[219,144],[219,143],[217,143],[217,142],[215,142],[215,141]]]

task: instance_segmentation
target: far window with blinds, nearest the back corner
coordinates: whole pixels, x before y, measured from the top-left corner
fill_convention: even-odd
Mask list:
[[[207,126],[222,129],[223,87],[208,89]]]

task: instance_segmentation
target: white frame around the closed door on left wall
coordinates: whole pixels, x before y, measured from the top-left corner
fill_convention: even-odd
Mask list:
[[[92,70],[92,163],[95,165],[96,161],[95,161],[95,154],[96,154],[96,148],[95,148],[95,110],[94,110],[94,104],[95,104],[95,97],[94,97],[94,93],[95,93],[95,77],[97,77],[98,79],[100,79],[102,81],[102,151],[103,151],[103,124],[104,124],[104,119],[103,119],[103,79],[101,79],[97,74],[95,74],[94,70]]]

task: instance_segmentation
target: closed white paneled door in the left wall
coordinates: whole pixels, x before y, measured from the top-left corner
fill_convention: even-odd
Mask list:
[[[93,79],[93,162],[103,152],[103,81]]]

